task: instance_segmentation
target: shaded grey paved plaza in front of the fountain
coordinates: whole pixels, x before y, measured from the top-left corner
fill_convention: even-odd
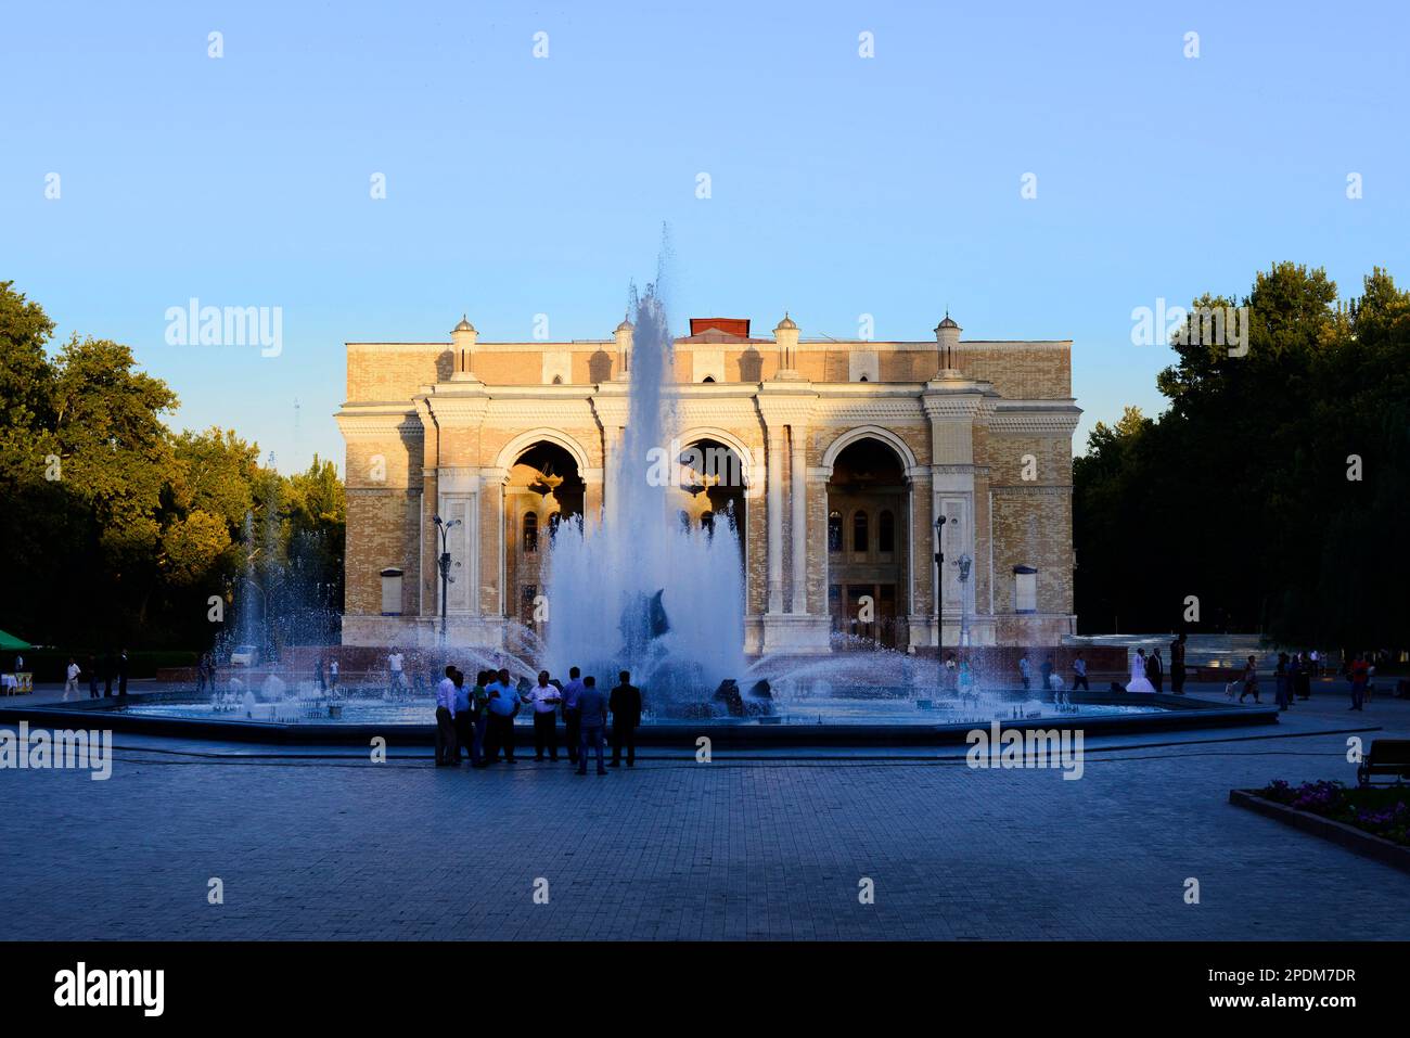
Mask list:
[[[580,778],[123,736],[106,783],[0,770],[0,938],[1406,939],[1410,876],[1227,802],[1352,780],[1317,732],[1410,733],[1410,702],[1345,705],[1090,740],[1080,781],[953,752]]]

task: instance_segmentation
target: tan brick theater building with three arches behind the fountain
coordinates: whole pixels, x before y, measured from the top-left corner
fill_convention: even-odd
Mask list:
[[[558,523],[591,536],[611,516],[632,334],[481,343],[461,320],[448,343],[347,344],[345,645],[436,643],[443,539],[451,643],[506,647],[540,623]],[[737,478],[687,470],[664,520],[736,525],[746,652],[1074,632],[1070,341],[960,340],[949,316],[907,343],[704,317],[674,377],[670,448]]]

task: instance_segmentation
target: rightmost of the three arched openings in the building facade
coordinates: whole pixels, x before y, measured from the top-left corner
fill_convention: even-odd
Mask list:
[[[871,436],[838,454],[828,480],[828,609],[836,649],[905,647],[905,464]]]

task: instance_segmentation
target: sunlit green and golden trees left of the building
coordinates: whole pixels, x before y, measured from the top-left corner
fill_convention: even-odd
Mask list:
[[[228,604],[250,563],[292,574],[265,581],[271,612],[307,590],[341,611],[333,463],[282,477],[234,430],[173,433],[176,395],[128,347],[75,336],[51,355],[52,336],[0,282],[0,629],[75,649],[204,647],[223,626],[210,597]]]

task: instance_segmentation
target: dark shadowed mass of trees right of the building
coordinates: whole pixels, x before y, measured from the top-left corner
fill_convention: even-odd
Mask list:
[[[1246,353],[1191,315],[1158,378],[1169,408],[1093,429],[1073,463],[1081,630],[1403,645],[1410,293],[1375,268],[1340,300],[1324,271],[1283,262],[1242,300],[1193,306],[1248,307]]]

